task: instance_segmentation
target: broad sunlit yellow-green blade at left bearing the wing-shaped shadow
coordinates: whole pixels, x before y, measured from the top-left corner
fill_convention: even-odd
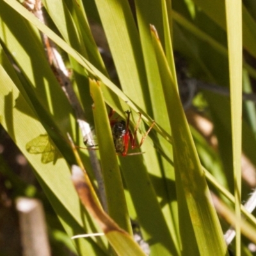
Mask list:
[[[70,182],[70,168],[67,162],[65,159],[60,158],[60,152],[52,143],[51,147],[60,156],[56,159],[55,163],[52,161],[43,163],[42,154],[31,154],[28,152],[26,148],[27,143],[35,139],[35,137],[45,134],[45,129],[38,122],[38,116],[30,108],[26,98],[22,97],[22,94],[17,90],[17,87],[2,65],[0,65],[0,84],[1,124],[35,169],[36,178],[48,196],[52,207],[57,212],[68,236],[81,234],[84,232],[84,218],[87,219],[88,217],[81,214],[81,205],[79,204],[76,191]],[[42,143],[42,141],[40,142]],[[88,225],[88,232],[95,232],[97,229],[97,225],[92,220],[86,224]],[[104,255],[106,247],[104,248],[102,242],[100,244],[101,248],[92,239],[88,239],[77,244],[77,248],[83,253],[86,250],[88,252],[96,250],[99,252],[99,255]]]

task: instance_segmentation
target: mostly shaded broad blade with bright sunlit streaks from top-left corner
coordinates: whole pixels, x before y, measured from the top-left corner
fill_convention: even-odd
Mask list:
[[[21,72],[16,75],[7,58],[3,60],[3,66],[17,84],[22,95],[25,98],[29,97],[28,102],[33,105],[40,122],[45,125],[45,129],[51,134],[52,140],[61,149],[61,153],[65,155],[67,161],[72,163],[74,157],[70,147],[65,140],[61,139],[61,136],[66,137],[69,132],[76,143],[79,141],[80,145],[84,144],[83,138],[77,135],[76,120],[67,97],[47,63],[42,45],[36,40],[35,31],[31,30],[26,20],[20,19],[19,15],[15,15],[15,12],[2,2],[0,12],[3,19],[0,29],[1,40],[8,48],[9,53],[13,52],[13,61]],[[8,17],[12,17],[12,19],[8,19]],[[23,74],[26,75],[23,76]],[[16,81],[17,76],[22,83]],[[89,171],[88,159],[83,157],[83,160]]]

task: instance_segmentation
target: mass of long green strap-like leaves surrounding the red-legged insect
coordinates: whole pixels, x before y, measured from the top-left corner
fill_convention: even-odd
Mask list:
[[[0,122],[33,166],[68,237],[102,232],[97,220],[81,206],[70,180],[70,166],[76,159],[67,132],[80,147],[84,147],[83,136],[76,108],[61,90],[45,56],[40,36],[44,33],[71,68],[83,116],[91,127],[95,125],[99,147],[95,155],[104,177],[109,216],[128,233],[132,232],[129,218],[138,221],[152,256],[228,255],[223,237],[228,225],[220,223],[211,189],[229,207],[236,205],[232,220],[238,223],[239,255],[248,243],[239,234],[243,223],[238,221],[240,211],[246,211],[240,210],[241,198],[248,196],[241,192],[241,151],[256,165],[254,106],[246,103],[247,119],[241,119],[242,74],[246,92],[252,92],[248,76],[256,77],[256,71],[242,60],[239,17],[243,13],[244,48],[254,58],[255,20],[246,6],[230,8],[229,1],[227,14],[223,1],[177,0],[172,6],[166,2],[135,0],[130,6],[127,0],[44,0],[47,27],[19,2],[0,0]],[[118,83],[105,67],[88,20],[104,30]],[[179,97],[182,79],[177,79],[180,70],[175,71],[173,51],[186,60],[182,68],[188,80],[196,77],[223,88],[230,84],[231,101],[202,90],[194,105],[204,109],[214,125],[218,150],[189,127]],[[116,156],[108,108],[116,111],[118,120],[125,120],[125,111],[131,111],[131,132],[141,113],[138,141],[156,122],[141,148],[132,151],[143,154]],[[97,190],[100,185],[92,154],[81,149],[79,154]],[[235,199],[230,195],[234,192]],[[255,217],[245,215],[255,229]],[[107,238],[88,237],[73,244],[79,255],[109,255],[113,251]],[[118,234],[111,239],[119,252],[130,243]]]

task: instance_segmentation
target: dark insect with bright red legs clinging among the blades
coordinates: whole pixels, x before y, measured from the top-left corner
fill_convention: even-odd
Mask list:
[[[114,113],[113,110],[111,111],[111,113],[109,113],[109,119],[110,119],[110,125],[111,125],[112,136],[113,136],[116,153],[121,154],[122,156],[131,156],[131,155],[141,154],[141,152],[127,154],[128,148],[129,148],[129,141],[131,143],[132,149],[140,148],[141,145],[143,144],[143,141],[147,137],[148,133],[154,126],[155,122],[153,122],[152,125],[150,125],[150,127],[148,128],[148,131],[141,138],[140,144],[137,145],[136,138],[137,138],[137,130],[138,130],[138,127],[139,127],[139,124],[141,121],[141,113],[140,113],[140,117],[138,119],[138,122],[136,124],[133,134],[132,134],[131,130],[129,129],[131,111],[125,111],[125,113],[127,113],[126,122],[124,120],[122,120],[122,121],[118,121],[116,119],[111,120],[111,116],[113,116],[113,113]]]

